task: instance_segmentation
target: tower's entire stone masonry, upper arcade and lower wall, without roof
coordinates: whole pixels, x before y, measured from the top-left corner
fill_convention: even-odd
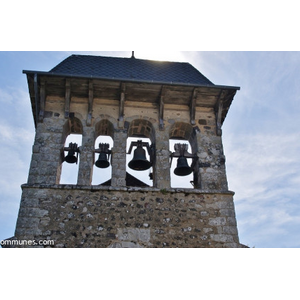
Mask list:
[[[64,99],[47,97],[37,124],[32,161],[15,231],[18,240],[53,240],[53,247],[240,247],[228,191],[221,136],[215,112],[165,105],[164,127],[157,106],[127,103],[118,120],[118,101],[95,99],[87,124],[87,99],[71,99],[65,118]],[[62,153],[68,134],[82,134],[77,185],[62,185]],[[94,142],[114,140],[111,186],[91,184]],[[126,141],[146,136],[155,145],[153,187],[126,187]],[[170,188],[169,139],[188,140],[199,161],[194,189]],[[184,180],[184,179],[183,179]]]

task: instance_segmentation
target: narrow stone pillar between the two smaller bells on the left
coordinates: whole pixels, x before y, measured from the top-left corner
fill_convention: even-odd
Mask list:
[[[78,171],[78,185],[91,185],[94,163],[94,128],[84,127],[82,146],[80,147],[80,162]]]

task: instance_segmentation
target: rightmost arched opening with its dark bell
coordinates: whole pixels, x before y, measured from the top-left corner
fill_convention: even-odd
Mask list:
[[[171,154],[171,187],[193,188],[197,186],[198,174],[197,140],[193,127],[176,122],[170,128],[169,150]]]

